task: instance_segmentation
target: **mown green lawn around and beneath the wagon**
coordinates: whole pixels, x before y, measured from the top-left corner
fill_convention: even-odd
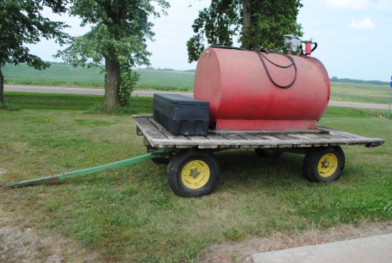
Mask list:
[[[82,103],[77,97],[94,96],[65,96],[63,109],[57,110],[45,109],[44,103],[24,108],[32,97],[14,96],[21,97],[22,109],[0,110],[0,183],[145,153],[130,115],[76,110]],[[386,140],[377,148],[344,147],[344,174],[329,184],[304,179],[303,155],[284,153],[271,160],[253,150],[226,150],[216,153],[221,177],[212,195],[177,197],[167,186],[166,165],[148,161],[62,182],[0,189],[0,217],[12,217],[18,227],[59,232],[103,263],[198,262],[213,242],[300,234],[314,225],[391,221],[392,125],[376,116],[373,110],[328,108],[321,125]]]

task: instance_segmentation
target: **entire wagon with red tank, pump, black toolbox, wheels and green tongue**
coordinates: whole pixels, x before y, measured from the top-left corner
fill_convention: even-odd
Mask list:
[[[301,153],[307,180],[337,180],[345,165],[341,145],[376,147],[384,140],[317,125],[329,101],[328,73],[310,56],[316,43],[294,35],[284,39],[288,55],[263,48],[206,48],[197,62],[194,98],[155,93],[153,115],[133,116],[147,154],[0,187],[63,180],[151,159],[167,164],[175,194],[199,197],[217,185],[220,165],[214,152],[237,148],[269,158]],[[305,53],[296,56],[301,43]]]

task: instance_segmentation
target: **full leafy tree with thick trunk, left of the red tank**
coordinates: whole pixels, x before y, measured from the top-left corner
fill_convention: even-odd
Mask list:
[[[153,0],[163,14],[169,4]],[[128,103],[130,88],[138,79],[131,70],[136,65],[150,65],[146,39],[153,41],[153,24],[148,17],[159,17],[150,0],[71,0],[70,14],[80,16],[81,26],[93,24],[91,31],[73,38],[71,46],[58,51],[73,66],[100,66],[105,63],[105,106],[113,108]]]

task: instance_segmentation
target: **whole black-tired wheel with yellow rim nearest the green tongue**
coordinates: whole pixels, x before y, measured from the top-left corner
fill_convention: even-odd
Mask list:
[[[182,149],[167,166],[167,181],[176,195],[200,197],[215,189],[219,173],[219,162],[210,151]]]

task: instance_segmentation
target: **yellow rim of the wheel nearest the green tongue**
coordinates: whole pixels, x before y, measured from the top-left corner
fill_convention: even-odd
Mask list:
[[[202,160],[192,160],[181,172],[184,185],[191,189],[199,189],[210,180],[210,167]]]

